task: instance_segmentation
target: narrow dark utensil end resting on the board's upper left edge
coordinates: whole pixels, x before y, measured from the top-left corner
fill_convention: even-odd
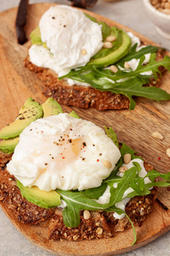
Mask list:
[[[28,0],[20,0],[20,5],[15,22],[16,35],[19,44],[25,44],[27,41],[25,32],[27,7]]]

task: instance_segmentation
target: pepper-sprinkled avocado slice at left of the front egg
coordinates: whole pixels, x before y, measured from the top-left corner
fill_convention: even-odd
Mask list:
[[[18,137],[20,133],[30,125],[31,122],[42,117],[42,106],[28,98],[24,106],[20,108],[19,116],[13,123],[7,125],[0,131],[0,137],[4,140]]]

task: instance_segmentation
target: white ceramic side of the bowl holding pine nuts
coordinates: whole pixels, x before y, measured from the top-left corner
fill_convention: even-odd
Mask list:
[[[150,0],[143,0],[143,2],[148,15],[150,15],[150,19],[156,26],[156,31],[162,37],[170,40],[170,15],[161,13],[156,8],[154,8],[151,5]]]

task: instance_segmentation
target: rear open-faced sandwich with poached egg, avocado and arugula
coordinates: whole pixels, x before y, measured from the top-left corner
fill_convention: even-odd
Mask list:
[[[133,96],[168,101],[158,88],[170,57],[132,32],[108,26],[80,9],[56,5],[31,32],[26,67],[45,84],[45,96],[79,108],[135,107]]]

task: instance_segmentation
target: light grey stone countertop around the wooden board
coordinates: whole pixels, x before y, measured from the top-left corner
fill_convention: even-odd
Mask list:
[[[0,12],[13,8],[19,4],[19,0],[0,0]],[[69,1],[33,1],[30,3],[63,3],[70,5]],[[156,32],[156,28],[150,21],[150,17],[146,14],[142,0],[117,0],[106,2],[99,0],[94,6],[94,13],[103,15],[111,20],[116,20],[125,26],[132,28],[134,31],[150,38],[156,44],[161,45],[170,50],[170,41],[161,38]],[[27,241],[10,223],[3,211],[0,209],[0,256],[50,256],[52,253],[43,251],[42,249]],[[133,250],[129,253],[123,253],[122,256],[168,256],[170,255],[170,231],[156,241]]]

